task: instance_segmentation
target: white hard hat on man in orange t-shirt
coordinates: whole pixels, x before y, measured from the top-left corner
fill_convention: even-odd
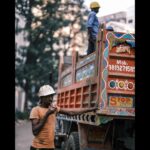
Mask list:
[[[41,97],[41,96],[47,96],[51,94],[55,94],[54,89],[50,85],[43,85],[39,89],[38,96]]]

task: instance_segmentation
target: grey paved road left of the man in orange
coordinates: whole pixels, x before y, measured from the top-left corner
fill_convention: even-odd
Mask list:
[[[20,121],[19,123],[16,123],[15,150],[30,150],[32,138],[31,123],[29,121]]]

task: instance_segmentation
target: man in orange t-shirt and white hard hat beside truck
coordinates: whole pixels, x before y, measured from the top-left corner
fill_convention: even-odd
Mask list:
[[[34,139],[30,150],[54,150],[54,133],[56,114],[78,115],[97,108],[80,109],[80,111],[69,111],[53,105],[54,89],[50,85],[43,85],[39,89],[39,105],[33,107],[30,113],[32,132]]]

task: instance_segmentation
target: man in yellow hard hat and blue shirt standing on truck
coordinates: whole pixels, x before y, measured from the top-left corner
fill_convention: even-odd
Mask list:
[[[87,20],[87,29],[88,29],[88,49],[87,55],[94,52],[96,49],[96,38],[98,35],[98,30],[100,23],[96,14],[99,11],[100,5],[98,2],[92,2],[90,4],[91,12],[89,13]]]

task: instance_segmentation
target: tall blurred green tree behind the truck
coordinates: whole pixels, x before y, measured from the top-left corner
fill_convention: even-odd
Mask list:
[[[15,65],[16,85],[25,90],[27,107],[28,100],[37,100],[42,84],[54,86],[57,82],[59,52],[67,55],[73,36],[85,30],[85,11],[83,0],[16,0],[15,4],[16,14],[25,18],[25,27],[16,25],[16,34],[24,31],[29,42],[20,47],[16,43]],[[73,28],[75,23],[78,30]],[[62,32],[67,26],[68,35]]]

